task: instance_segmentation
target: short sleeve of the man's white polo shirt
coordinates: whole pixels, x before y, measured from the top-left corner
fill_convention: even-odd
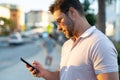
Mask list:
[[[111,42],[105,40],[96,42],[91,53],[95,73],[117,72],[117,55],[118,53]]]

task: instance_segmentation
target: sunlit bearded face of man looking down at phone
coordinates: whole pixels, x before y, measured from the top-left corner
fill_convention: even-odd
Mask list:
[[[69,15],[62,13],[59,10],[56,10],[53,15],[58,24],[58,30],[63,32],[67,38],[73,37],[74,22]]]

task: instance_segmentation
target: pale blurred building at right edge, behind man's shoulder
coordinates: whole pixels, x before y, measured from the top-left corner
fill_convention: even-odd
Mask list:
[[[120,0],[109,0],[106,5],[106,35],[120,41]]]

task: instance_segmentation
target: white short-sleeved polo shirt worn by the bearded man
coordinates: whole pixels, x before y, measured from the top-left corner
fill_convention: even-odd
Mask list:
[[[96,80],[96,74],[117,72],[117,51],[95,26],[62,48],[60,80]]]

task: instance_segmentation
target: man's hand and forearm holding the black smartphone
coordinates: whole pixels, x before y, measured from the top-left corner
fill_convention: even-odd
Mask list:
[[[26,67],[29,69],[30,73],[32,75],[34,75],[35,77],[42,77],[45,80],[60,80],[60,76],[59,76],[60,72],[59,71],[55,71],[55,72],[48,71],[48,70],[44,69],[42,67],[42,65],[39,64],[37,61],[33,62],[33,66],[36,69],[33,69],[32,67],[26,65]]]

